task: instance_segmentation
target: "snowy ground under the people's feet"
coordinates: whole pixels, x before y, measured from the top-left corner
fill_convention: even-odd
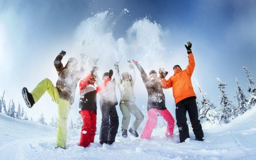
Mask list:
[[[205,141],[177,143],[156,128],[151,140],[118,133],[116,143],[101,146],[99,136],[89,148],[77,146],[78,132],[69,132],[67,150],[54,149],[56,128],[0,114],[1,160],[256,160],[256,107],[228,125],[203,128]],[[192,129],[190,128],[192,131]]]

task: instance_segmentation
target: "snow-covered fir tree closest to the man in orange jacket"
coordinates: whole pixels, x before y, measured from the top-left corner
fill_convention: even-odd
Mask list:
[[[200,108],[200,117],[199,119],[202,121],[204,118],[206,121],[210,122],[212,125],[214,123],[218,123],[218,113],[216,112],[215,108],[216,106],[213,104],[213,102],[210,100],[206,92],[204,92],[200,85],[197,83],[197,87],[199,88],[200,95],[202,96],[201,105]]]

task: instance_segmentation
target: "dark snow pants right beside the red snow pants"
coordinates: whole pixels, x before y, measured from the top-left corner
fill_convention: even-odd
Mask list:
[[[118,113],[115,108],[117,104],[118,103],[113,103],[108,100],[100,102],[100,110],[102,113],[100,142],[102,143],[115,142],[119,125]]]

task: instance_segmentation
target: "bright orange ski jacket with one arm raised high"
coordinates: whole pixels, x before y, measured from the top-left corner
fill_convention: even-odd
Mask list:
[[[192,53],[189,53],[188,58],[189,64],[186,70],[174,72],[174,75],[171,76],[169,80],[160,78],[161,85],[164,89],[172,87],[175,104],[187,97],[196,97],[191,83],[191,76],[195,68],[195,60]]]

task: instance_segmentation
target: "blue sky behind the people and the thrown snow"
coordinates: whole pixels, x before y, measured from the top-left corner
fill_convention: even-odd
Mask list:
[[[121,14],[124,8],[129,13]],[[64,61],[67,61],[68,56],[73,56],[69,51],[72,51],[70,47],[79,24],[97,12],[109,10],[116,18],[115,25],[111,28],[115,40],[126,37],[128,28],[145,16],[151,22],[156,21],[161,25],[161,43],[165,48],[162,67],[170,70],[171,74],[173,65],[186,67],[187,53],[184,44],[188,40],[192,41],[197,64],[193,76],[218,105],[216,77],[228,83],[228,95],[233,100],[235,76],[243,89],[247,89],[242,67],[247,66],[254,76],[256,74],[255,8],[254,0],[0,0],[0,92],[5,90],[6,100],[13,98],[15,102],[20,101],[25,106],[20,94],[21,88],[27,86],[32,90],[45,77],[55,83],[57,74],[53,60],[56,55],[61,50],[67,50]],[[140,60],[140,55],[135,53],[127,56]],[[141,56],[144,54],[141,53]],[[141,65],[154,63],[154,59],[147,60],[141,60]],[[112,65],[114,62],[104,63]],[[139,75],[137,79],[139,87],[143,88]],[[143,94],[136,95],[139,107],[146,105],[146,89],[143,90]],[[195,90],[198,92],[196,87]],[[166,106],[174,114],[171,91],[165,90],[165,93],[166,99],[169,99]],[[77,113],[77,107],[74,104],[72,116]],[[56,106],[45,95],[36,108],[27,109],[27,112],[34,118],[45,112],[50,119],[56,114]]]

